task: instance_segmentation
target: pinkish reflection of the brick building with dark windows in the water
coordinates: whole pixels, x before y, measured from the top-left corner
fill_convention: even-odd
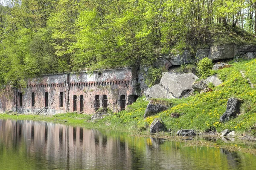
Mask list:
[[[0,142],[10,147],[10,141],[24,143],[27,152],[53,167],[97,169],[102,164],[111,167],[113,158],[117,164],[131,166],[131,161],[124,162],[131,160],[128,147],[121,146],[119,138],[107,137],[98,130],[38,121],[0,120],[0,132],[3,132]]]

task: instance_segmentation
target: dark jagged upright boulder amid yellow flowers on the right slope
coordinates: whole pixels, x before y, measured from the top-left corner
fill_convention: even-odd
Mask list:
[[[227,101],[227,110],[221,115],[220,121],[229,121],[236,117],[236,114],[239,113],[240,101],[237,98],[229,98]]]

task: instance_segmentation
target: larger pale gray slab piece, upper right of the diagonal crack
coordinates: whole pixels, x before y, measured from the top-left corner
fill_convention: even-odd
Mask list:
[[[164,72],[161,78],[160,84],[175,98],[181,98],[188,94],[192,94],[194,89],[192,84],[197,80],[198,77],[193,73],[174,73]]]

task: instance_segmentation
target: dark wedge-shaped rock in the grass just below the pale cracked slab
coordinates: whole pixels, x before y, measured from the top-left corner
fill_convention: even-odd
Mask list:
[[[151,116],[151,115],[155,115],[159,112],[162,112],[164,110],[167,110],[169,106],[161,104],[161,103],[157,103],[155,101],[149,101],[148,106],[145,110],[145,114],[143,116],[143,118]]]

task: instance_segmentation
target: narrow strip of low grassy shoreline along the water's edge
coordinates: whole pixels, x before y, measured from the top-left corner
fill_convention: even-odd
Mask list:
[[[256,154],[256,149],[252,146],[255,145],[255,138],[252,136],[241,137],[237,135],[230,140],[227,137],[218,136],[218,133],[199,133],[195,136],[177,136],[176,133],[157,133],[150,134],[147,131],[139,132],[137,130],[129,131],[125,130],[125,127],[110,127],[99,126],[97,122],[88,121],[86,117],[91,115],[83,115],[85,118],[70,118],[66,115],[25,115],[25,114],[0,114],[0,119],[12,119],[12,120],[31,120],[31,121],[47,121],[55,124],[64,124],[68,126],[79,126],[85,128],[95,128],[99,130],[115,130],[119,132],[129,132],[134,137],[149,137],[149,138],[161,138],[163,141],[177,141],[185,143],[188,147],[218,147],[224,148],[233,152],[241,151],[243,153]]]

